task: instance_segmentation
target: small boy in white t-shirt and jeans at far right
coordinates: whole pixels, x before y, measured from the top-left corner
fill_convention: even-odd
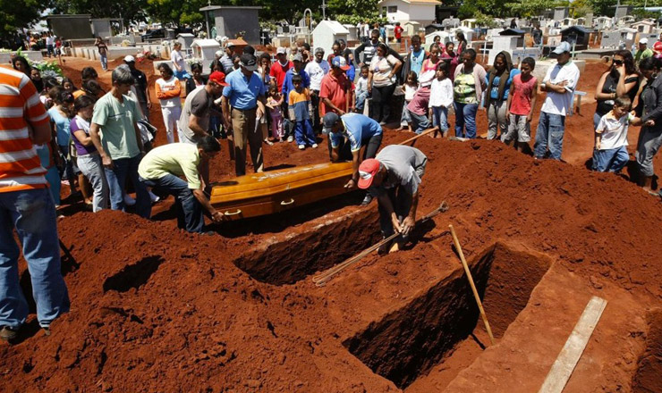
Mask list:
[[[641,126],[641,118],[630,112],[632,101],[628,96],[619,96],[614,100],[614,108],[600,118],[595,130],[595,148],[593,149],[593,170],[619,172],[630,161],[627,154],[628,123]],[[646,121],[646,126],[655,126],[655,121]]]

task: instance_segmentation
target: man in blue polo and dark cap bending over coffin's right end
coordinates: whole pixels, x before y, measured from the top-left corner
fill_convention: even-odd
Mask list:
[[[345,188],[355,188],[359,181],[359,165],[362,160],[375,158],[382,143],[382,127],[377,121],[360,113],[346,113],[338,116],[329,112],[324,115],[324,132],[328,134],[331,161],[352,159],[352,179]],[[365,146],[363,156],[361,147]],[[368,205],[372,197],[366,194],[361,205]]]

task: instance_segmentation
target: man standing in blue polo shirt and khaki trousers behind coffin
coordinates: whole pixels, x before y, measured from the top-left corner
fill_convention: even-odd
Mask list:
[[[265,88],[262,79],[254,72],[258,69],[255,55],[242,54],[239,64],[239,70],[230,72],[225,78],[228,86],[223,89],[222,105],[225,127],[229,128],[232,121],[234,172],[237,176],[243,176],[246,174],[247,140],[253,168],[256,172],[263,169],[262,130],[256,130],[255,122],[265,115]]]

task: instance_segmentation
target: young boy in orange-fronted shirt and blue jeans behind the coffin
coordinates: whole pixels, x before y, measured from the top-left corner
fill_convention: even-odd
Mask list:
[[[290,97],[287,102],[290,119],[294,121],[294,138],[299,150],[306,148],[306,145],[317,147],[315,134],[312,132],[312,123],[310,122],[310,113],[312,113],[312,104],[310,103],[310,91],[303,88],[303,79],[297,74],[292,77],[294,89],[290,91]]]

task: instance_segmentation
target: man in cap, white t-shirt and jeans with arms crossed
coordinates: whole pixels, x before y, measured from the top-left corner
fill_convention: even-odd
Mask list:
[[[570,60],[571,47],[562,42],[552,54],[556,55],[556,65],[547,69],[540,90],[547,92],[545,103],[540,109],[540,120],[536,132],[534,156],[542,159],[547,154],[554,160],[561,160],[563,152],[565,115],[573,105],[574,89],[579,81],[580,71]]]

